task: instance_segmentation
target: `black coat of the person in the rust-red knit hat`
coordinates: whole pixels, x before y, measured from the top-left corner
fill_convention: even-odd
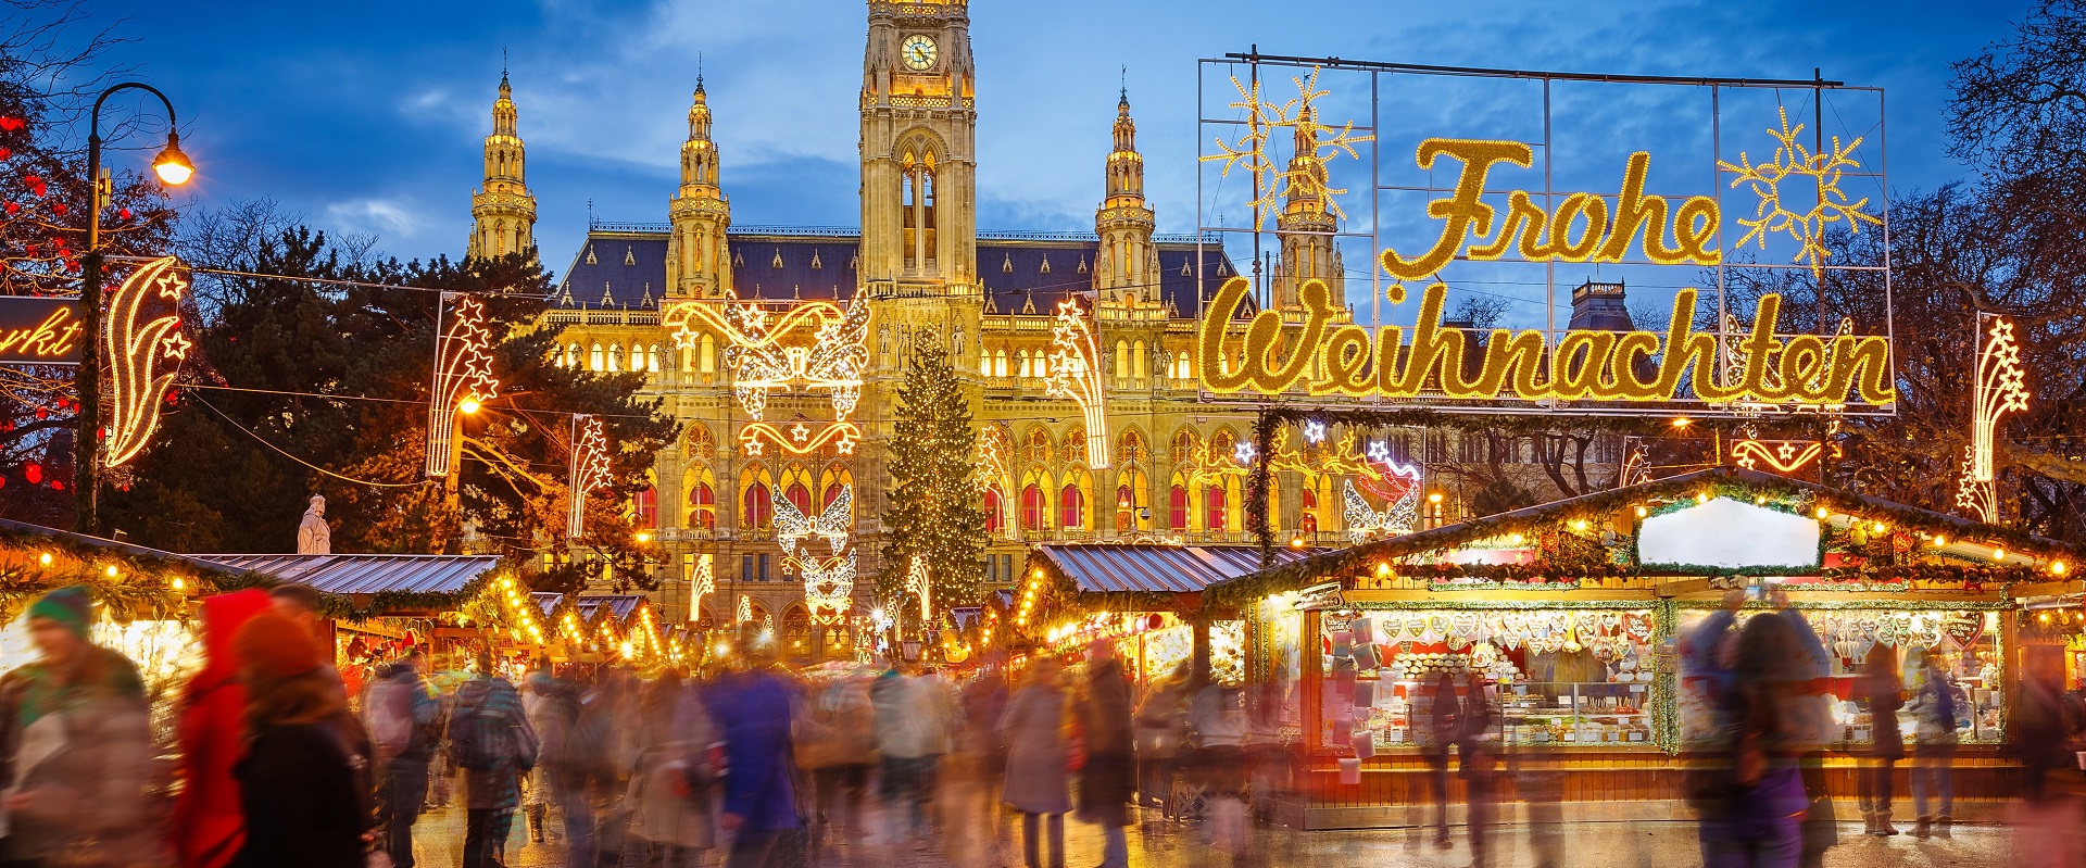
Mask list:
[[[328,724],[267,726],[238,764],[246,843],[232,868],[361,868],[355,770]]]

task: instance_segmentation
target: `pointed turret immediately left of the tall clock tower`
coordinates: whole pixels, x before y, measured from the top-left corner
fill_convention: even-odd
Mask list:
[[[718,144],[709,138],[709,94],[701,73],[688,106],[688,140],[680,144],[680,194],[670,202],[668,219],[674,223],[665,242],[668,296],[722,296],[732,286],[732,257],[724,242],[732,202],[718,186]]]

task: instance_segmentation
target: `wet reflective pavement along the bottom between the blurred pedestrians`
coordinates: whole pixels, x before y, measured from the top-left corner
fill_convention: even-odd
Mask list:
[[[1473,864],[1469,841],[1458,835],[1448,849],[1433,847],[1414,830],[1325,830],[1291,833],[1281,826],[1254,824],[1239,855],[1229,855],[1206,841],[1204,822],[1174,822],[1156,810],[1133,814],[1129,830],[1133,868],[1464,868]],[[876,812],[868,820],[870,835],[822,847],[814,866],[978,866],[1018,868],[1020,818],[1010,816],[997,833],[983,822],[953,822],[941,835],[914,837]],[[553,830],[557,822],[549,822]],[[1909,826],[1909,824],[1907,824]],[[2078,833],[2080,826],[2073,826]],[[1012,835],[1010,835],[1012,833]],[[1825,853],[1825,868],[2028,868],[2040,845],[2017,843],[2007,826],[1955,826],[1950,837],[1917,841],[1911,835],[1892,839],[1863,837],[1861,824],[1842,826],[1842,843]],[[415,826],[415,862],[419,868],[455,868],[461,862],[463,812],[442,807],[421,816]],[[1089,868],[1101,860],[1099,828],[1068,818],[1066,866]],[[1694,824],[1685,822],[1585,822],[1564,826],[1564,853],[1554,866],[1537,866],[1525,826],[1502,826],[1494,868],[1696,868]],[[532,843],[524,822],[515,818],[515,835],[507,845],[509,868],[563,866],[559,841]],[[703,868],[724,862],[724,849],[705,851]],[[603,862],[605,866],[613,862]],[[1047,864],[1047,862],[1045,862]],[[626,862],[626,866],[636,866]]]

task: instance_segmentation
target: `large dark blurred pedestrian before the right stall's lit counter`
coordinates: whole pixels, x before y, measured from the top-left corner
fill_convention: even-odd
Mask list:
[[[1698,638],[1717,643],[1717,636]],[[1727,686],[1719,709],[1729,722],[1727,741],[1690,778],[1690,799],[1700,810],[1702,864],[1794,868],[1811,803],[1796,768],[1806,732],[1796,728],[1802,716],[1792,714],[1792,699],[1804,695],[1811,664],[1790,620],[1748,620],[1719,680]]]

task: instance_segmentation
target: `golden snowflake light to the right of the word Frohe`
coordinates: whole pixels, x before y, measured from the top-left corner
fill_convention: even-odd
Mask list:
[[[1769,163],[1754,165],[1746,152],[1738,154],[1738,165],[1717,161],[1717,169],[1729,171],[1738,177],[1731,179],[1731,188],[1748,186],[1758,204],[1754,207],[1752,219],[1740,217],[1738,225],[1746,227],[1746,236],[1738,240],[1736,246],[1746,246],[1746,242],[1767,248],[1767,236],[1788,234],[1796,240],[1798,250],[1792,263],[1809,263],[1811,275],[1819,278],[1825,269],[1825,259],[1832,259],[1832,250],[1825,248],[1825,230],[1832,223],[1846,223],[1848,230],[1861,232],[1863,223],[1884,225],[1884,221],[1867,211],[1869,198],[1848,200],[1846,192],[1840,190],[1840,179],[1848,169],[1861,169],[1854,161],[1854,148],[1861,148],[1861,136],[1852,142],[1842,144],[1840,136],[1832,138],[1832,152],[1813,154],[1796,138],[1802,136],[1804,125],[1798,123],[1790,127],[1790,111],[1777,108],[1781,115],[1781,129],[1769,127],[1767,134],[1779,142],[1775,146],[1775,156]],[[1809,184],[1817,190],[1817,200],[1806,211],[1788,209],[1790,184]]]

